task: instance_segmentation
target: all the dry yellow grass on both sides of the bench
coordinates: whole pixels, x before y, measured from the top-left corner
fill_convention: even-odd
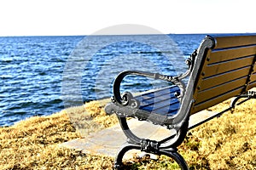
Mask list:
[[[229,101],[210,108],[220,111]],[[85,113],[86,111],[86,113]],[[103,105],[90,102],[51,116],[34,116],[12,127],[0,128],[0,169],[112,169],[113,158],[94,156],[60,147],[81,138],[68,113],[79,115],[88,132],[111,127],[115,116],[106,116]],[[249,100],[189,134],[178,150],[190,169],[256,169],[256,101]],[[81,120],[83,117],[83,120]],[[74,120],[72,120],[73,122]],[[100,126],[91,126],[93,124]],[[83,130],[82,130],[83,131]],[[80,131],[81,132],[81,131]],[[84,136],[84,135],[83,135]],[[159,161],[132,161],[138,169],[166,169],[172,162],[165,156]]]

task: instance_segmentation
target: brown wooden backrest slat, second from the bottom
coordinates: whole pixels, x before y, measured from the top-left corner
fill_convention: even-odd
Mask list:
[[[195,105],[199,104],[201,102],[204,102],[208,99],[215,98],[216,96],[218,96],[220,94],[225,94],[232,89],[244,86],[246,84],[246,82],[247,82],[247,77],[242,77],[240,79],[237,79],[236,81],[227,82],[218,87],[209,88],[207,90],[200,91],[197,94],[197,98],[195,100]]]

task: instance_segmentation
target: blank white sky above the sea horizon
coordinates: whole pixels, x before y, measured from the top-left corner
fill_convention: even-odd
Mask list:
[[[125,24],[165,34],[254,33],[255,8],[254,0],[3,0],[0,36],[91,35]]]

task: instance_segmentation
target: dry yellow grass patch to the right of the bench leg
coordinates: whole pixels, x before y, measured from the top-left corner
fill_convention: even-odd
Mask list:
[[[225,101],[211,109],[221,111],[229,104]],[[189,165],[195,169],[256,169],[255,113],[254,99],[237,106],[233,114],[229,111],[191,130],[180,146]]]

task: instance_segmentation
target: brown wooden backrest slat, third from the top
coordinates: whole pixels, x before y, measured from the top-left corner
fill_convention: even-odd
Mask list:
[[[247,65],[252,65],[253,56],[247,58],[234,59],[230,61],[224,61],[215,65],[207,65],[205,72],[205,77],[211,77],[226,71],[233,71]]]

